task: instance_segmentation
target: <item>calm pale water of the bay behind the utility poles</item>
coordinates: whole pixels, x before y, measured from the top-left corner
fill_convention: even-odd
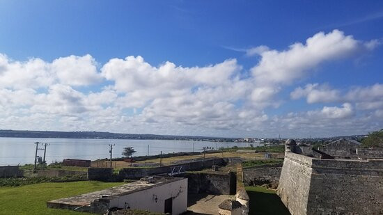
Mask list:
[[[104,159],[109,158],[109,144],[115,144],[113,157],[122,157],[125,147],[133,147],[134,156],[172,152],[201,152],[203,147],[230,148],[247,143],[217,143],[207,141],[163,141],[163,140],[109,140],[109,139],[62,139],[62,138],[0,138],[0,166],[33,164],[36,141],[49,143],[46,160],[50,164],[63,159]],[[258,145],[258,144],[254,144]],[[40,144],[39,148],[43,148]],[[38,150],[43,156],[44,150]]]

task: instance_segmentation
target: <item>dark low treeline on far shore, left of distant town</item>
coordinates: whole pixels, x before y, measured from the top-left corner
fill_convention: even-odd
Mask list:
[[[110,132],[50,132],[50,131],[17,131],[17,130],[0,130],[0,137],[234,141],[233,138],[215,138],[215,137],[204,137],[204,136],[172,136],[172,135],[156,135],[156,134],[118,134],[118,133],[110,133]]]

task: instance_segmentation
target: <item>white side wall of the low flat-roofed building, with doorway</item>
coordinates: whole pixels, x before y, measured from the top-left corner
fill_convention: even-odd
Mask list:
[[[157,202],[155,201],[157,197]],[[187,179],[169,182],[143,191],[137,191],[110,200],[109,207],[143,209],[164,213],[165,200],[173,199],[173,214],[182,214],[187,210]],[[125,204],[126,203],[126,204]]]

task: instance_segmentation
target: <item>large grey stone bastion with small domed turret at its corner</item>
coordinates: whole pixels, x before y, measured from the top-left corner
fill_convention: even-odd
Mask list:
[[[323,148],[335,159],[319,159],[286,141],[277,194],[292,215],[383,214],[383,157],[358,145],[334,141]]]

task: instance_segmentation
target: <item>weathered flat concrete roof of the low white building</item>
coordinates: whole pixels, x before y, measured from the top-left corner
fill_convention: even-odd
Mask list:
[[[54,208],[75,209],[77,207],[91,205],[91,202],[100,199],[102,195],[108,196],[108,198],[113,198],[114,196],[125,196],[127,194],[143,191],[145,189],[150,189],[155,186],[161,186],[162,184],[169,184],[171,182],[183,180],[184,178],[155,176],[153,177],[153,179],[154,180],[152,183],[148,183],[148,180],[141,179],[136,182],[123,184],[120,186],[114,186],[108,189],[103,189],[101,191],[95,191],[92,193],[81,194],[79,196],[72,196],[68,198],[60,198],[57,200],[48,201],[47,206]]]

